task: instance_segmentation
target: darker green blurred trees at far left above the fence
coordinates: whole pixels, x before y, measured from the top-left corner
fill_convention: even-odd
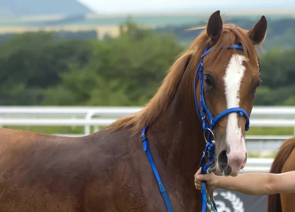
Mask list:
[[[13,36],[0,45],[0,104],[40,104],[45,90],[61,82],[68,63],[82,67],[91,51],[90,41],[56,41],[53,33]]]

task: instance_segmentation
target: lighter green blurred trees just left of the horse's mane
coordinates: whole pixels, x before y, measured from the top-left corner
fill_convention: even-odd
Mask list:
[[[59,75],[63,83],[46,91],[44,104],[143,105],[183,50],[173,35],[143,30],[133,22],[121,26],[118,37],[96,41],[93,48],[83,68],[71,65]]]

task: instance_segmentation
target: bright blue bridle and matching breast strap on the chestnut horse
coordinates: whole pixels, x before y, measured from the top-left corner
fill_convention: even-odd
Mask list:
[[[231,45],[228,47],[228,49],[236,49],[236,50],[241,50],[243,51],[243,47],[240,45]],[[205,103],[205,98],[204,98],[204,65],[203,65],[203,59],[204,57],[207,55],[208,52],[210,52],[211,49],[206,48],[205,52],[203,53],[203,55],[201,56],[201,61],[200,64],[198,66],[198,69],[196,71],[195,74],[195,78],[194,78],[194,97],[195,97],[195,105],[196,105],[196,109],[197,109],[197,114],[198,117],[203,125],[203,130],[204,130],[204,138],[206,141],[206,147],[205,147],[205,151],[202,155],[201,158],[201,162],[200,162],[200,167],[201,168],[201,174],[206,174],[207,170],[209,167],[211,167],[214,163],[215,163],[215,159],[214,159],[214,153],[215,153],[215,141],[214,141],[214,135],[213,135],[213,127],[216,125],[216,123],[223,117],[227,116],[230,113],[238,113],[238,115],[240,117],[245,117],[246,118],[246,123],[245,123],[245,130],[248,131],[249,130],[249,116],[247,114],[247,112],[242,109],[242,108],[230,108],[227,109],[225,111],[223,111],[222,113],[220,113],[218,116],[216,116],[215,118],[212,117],[210,111],[208,110],[206,103]],[[258,62],[258,66],[259,66],[259,71],[260,71],[260,61],[259,58],[257,57],[257,62]],[[199,110],[199,106],[198,106],[198,101],[197,101],[197,94],[196,94],[196,79],[197,79],[197,75],[199,74],[199,81],[200,81],[200,110]],[[210,122],[207,119],[207,116],[209,117]],[[170,199],[168,197],[167,191],[165,189],[164,184],[161,181],[160,175],[157,171],[157,168],[155,166],[155,163],[152,159],[152,156],[150,154],[149,148],[148,148],[148,140],[146,138],[146,129],[147,127],[144,126],[142,134],[141,134],[141,139],[143,142],[143,146],[144,146],[144,151],[146,151],[147,155],[148,155],[148,160],[149,163],[151,165],[152,171],[155,175],[155,178],[158,182],[159,185],[159,190],[161,192],[161,195],[163,197],[163,200],[165,202],[166,208],[168,212],[173,212],[172,209],[172,205],[170,202]],[[207,132],[207,139],[205,136],[205,133]],[[211,135],[213,136],[213,140],[211,141]],[[206,159],[209,160],[209,162],[206,162]],[[213,203],[214,209],[217,211],[215,202]],[[206,192],[206,184],[203,181],[202,182],[202,207],[203,207],[203,212],[207,212],[207,192]]]

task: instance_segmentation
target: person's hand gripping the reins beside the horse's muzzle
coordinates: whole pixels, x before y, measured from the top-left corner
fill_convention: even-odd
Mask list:
[[[211,193],[216,186],[217,176],[213,173],[201,175],[201,168],[195,174],[195,187],[197,190],[202,190],[201,182],[206,181],[207,192]]]

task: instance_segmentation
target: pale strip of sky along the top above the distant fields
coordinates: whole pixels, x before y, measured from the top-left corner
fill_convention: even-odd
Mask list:
[[[293,8],[294,0],[78,0],[100,14]],[[238,3],[237,3],[238,2]]]

